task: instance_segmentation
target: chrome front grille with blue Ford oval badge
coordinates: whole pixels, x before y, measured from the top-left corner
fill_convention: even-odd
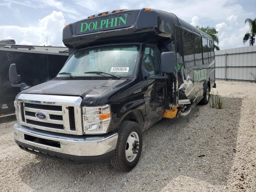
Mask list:
[[[20,124],[51,132],[82,135],[81,102],[79,96],[20,94]],[[40,115],[36,116],[36,113]]]

